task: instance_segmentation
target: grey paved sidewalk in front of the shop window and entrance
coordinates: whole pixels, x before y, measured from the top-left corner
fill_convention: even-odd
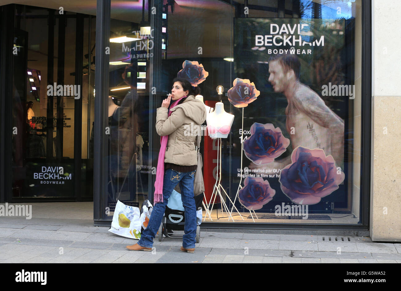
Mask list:
[[[401,243],[367,237],[201,230],[195,253],[182,239],[154,239],[154,251],[129,251],[137,242],[91,219],[1,217],[1,263],[401,263]],[[224,230],[222,230],[224,231]],[[259,233],[258,233],[259,232]],[[311,232],[312,233],[312,232]],[[337,239],[337,241],[336,241]]]

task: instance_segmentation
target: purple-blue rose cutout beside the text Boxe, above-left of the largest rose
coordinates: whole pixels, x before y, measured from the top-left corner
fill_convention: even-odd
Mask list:
[[[284,153],[290,140],[284,137],[279,127],[255,122],[251,136],[244,140],[245,156],[256,165],[266,165]]]

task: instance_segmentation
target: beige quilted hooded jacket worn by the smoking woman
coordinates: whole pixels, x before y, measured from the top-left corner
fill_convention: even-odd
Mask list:
[[[181,166],[197,165],[195,149],[197,140],[193,128],[205,122],[205,105],[190,95],[171,111],[172,113],[168,118],[168,108],[160,107],[156,111],[156,132],[160,136],[168,135],[164,163]],[[192,132],[190,128],[192,128]],[[201,132],[201,130],[199,131]]]

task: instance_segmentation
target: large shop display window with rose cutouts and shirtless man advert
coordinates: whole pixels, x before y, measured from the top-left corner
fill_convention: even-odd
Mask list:
[[[183,70],[231,114],[201,130],[205,222],[359,223],[361,4],[112,0],[104,206],[152,198],[156,108]]]

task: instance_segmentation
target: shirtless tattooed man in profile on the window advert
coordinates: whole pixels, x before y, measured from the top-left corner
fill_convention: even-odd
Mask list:
[[[288,101],[286,128],[292,148],[322,149],[342,167],[344,121],[326,106],[316,92],[300,82],[298,57],[273,56],[269,60],[269,74],[274,92],[283,93]]]

